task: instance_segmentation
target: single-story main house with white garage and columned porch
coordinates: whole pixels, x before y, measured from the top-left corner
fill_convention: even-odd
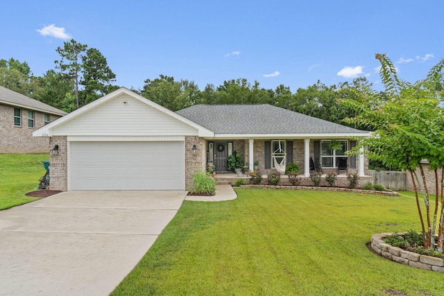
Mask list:
[[[227,171],[239,151],[250,169],[274,171],[274,159],[296,162],[309,176],[309,159],[336,172],[340,158],[364,176],[364,154],[347,157],[349,137],[368,132],[271,105],[195,105],[172,112],[126,88],[99,98],[33,132],[50,137],[54,190],[184,190],[207,163]],[[332,151],[337,139],[343,150]]]

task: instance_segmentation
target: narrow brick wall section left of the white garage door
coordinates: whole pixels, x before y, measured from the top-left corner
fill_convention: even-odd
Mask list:
[[[67,137],[54,136],[51,137],[50,146],[58,145],[56,154],[49,154],[49,189],[51,190],[68,190],[68,150]]]

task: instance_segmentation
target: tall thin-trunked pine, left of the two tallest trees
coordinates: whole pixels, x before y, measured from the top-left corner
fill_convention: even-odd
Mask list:
[[[78,101],[78,84],[80,81],[80,71],[82,69],[81,61],[86,49],[86,44],[80,44],[76,42],[76,40],[71,39],[69,42],[63,43],[63,48],[58,46],[56,51],[60,55],[60,60],[54,61],[56,63],[56,69],[60,69],[63,77],[74,82],[77,107],[80,107]]]

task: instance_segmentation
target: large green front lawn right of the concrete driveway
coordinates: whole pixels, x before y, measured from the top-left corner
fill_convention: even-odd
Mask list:
[[[444,275],[382,259],[373,234],[420,229],[415,200],[237,189],[189,202],[112,295],[443,295]]]

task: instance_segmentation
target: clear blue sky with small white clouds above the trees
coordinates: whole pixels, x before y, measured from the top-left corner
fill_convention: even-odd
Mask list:
[[[200,89],[247,78],[296,92],[357,76],[380,89],[375,53],[410,82],[444,58],[442,0],[4,2],[0,58],[41,76],[74,38],[99,49],[128,88],[163,74]]]

